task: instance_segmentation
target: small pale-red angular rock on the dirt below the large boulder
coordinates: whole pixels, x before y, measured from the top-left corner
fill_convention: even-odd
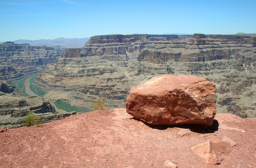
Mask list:
[[[221,161],[231,152],[227,141],[207,141],[191,147],[196,156],[202,158],[207,164],[221,164]]]

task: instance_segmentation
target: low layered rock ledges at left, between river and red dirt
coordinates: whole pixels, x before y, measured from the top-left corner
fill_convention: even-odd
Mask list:
[[[56,113],[49,101],[38,97],[16,97],[12,94],[0,95],[0,127],[17,128],[25,126],[24,120],[28,113],[35,113],[42,123],[62,119],[74,113]]]

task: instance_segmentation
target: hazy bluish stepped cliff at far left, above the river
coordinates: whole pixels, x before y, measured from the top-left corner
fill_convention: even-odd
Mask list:
[[[48,46],[29,44],[0,44],[0,81],[16,80],[24,74],[33,74],[60,56],[60,52]]]

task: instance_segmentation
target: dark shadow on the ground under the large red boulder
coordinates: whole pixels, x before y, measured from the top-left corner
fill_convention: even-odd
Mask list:
[[[134,120],[138,120],[140,122],[143,122],[140,119],[137,118],[131,118]],[[152,124],[148,124],[146,122],[143,122],[145,125],[147,125],[150,128],[153,129],[159,129],[159,130],[165,130],[167,128],[184,128],[184,129],[190,129],[192,132],[196,132],[196,133],[201,133],[201,134],[205,134],[205,133],[214,133],[218,130],[219,127],[219,123],[218,120],[214,119],[213,120],[213,124],[211,126],[207,126],[207,125],[200,125],[200,124],[180,124],[180,125],[152,125]]]

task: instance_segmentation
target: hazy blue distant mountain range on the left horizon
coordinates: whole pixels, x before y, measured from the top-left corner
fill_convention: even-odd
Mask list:
[[[33,46],[61,46],[63,48],[82,48],[90,38],[57,38],[53,40],[15,40],[16,44],[28,43]]]

